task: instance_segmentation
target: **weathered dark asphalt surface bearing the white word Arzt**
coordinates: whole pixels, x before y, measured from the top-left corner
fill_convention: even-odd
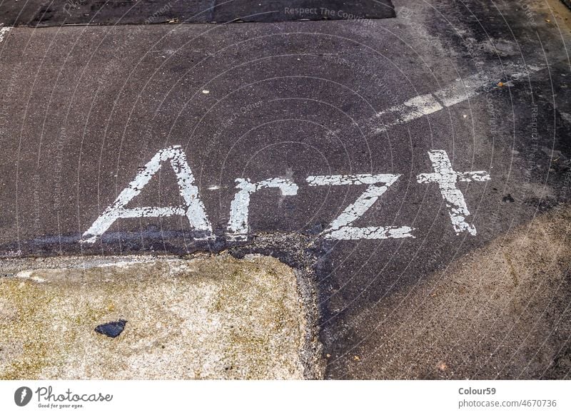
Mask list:
[[[568,378],[571,13],[339,3],[2,4],[0,255],[273,255],[318,287],[328,378]]]

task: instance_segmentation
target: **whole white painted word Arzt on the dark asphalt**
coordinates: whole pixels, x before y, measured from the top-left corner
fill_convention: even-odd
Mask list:
[[[450,220],[457,235],[468,232],[476,235],[473,225],[466,222],[470,215],[464,195],[456,187],[456,183],[490,180],[485,171],[470,171],[458,173],[452,168],[452,163],[444,150],[430,150],[428,152],[433,164],[434,173],[423,173],[417,176],[418,183],[438,183],[440,193],[448,207]],[[125,206],[135,198],[161,168],[161,164],[170,162],[176,175],[178,190],[184,200],[184,205],[167,207],[133,207]],[[388,188],[400,178],[400,175],[391,174],[358,174],[358,175],[318,175],[309,176],[306,181],[309,186],[339,186],[339,185],[367,185],[365,191],[354,203],[345,207],[345,210],[330,223],[322,235],[330,240],[360,240],[360,239],[389,239],[413,237],[413,228],[409,226],[370,226],[355,227],[354,223],[367,212],[383,195]],[[230,241],[244,241],[248,239],[248,215],[250,199],[253,193],[266,188],[277,188],[282,196],[295,196],[298,194],[298,185],[290,179],[270,178],[257,183],[249,179],[236,179],[238,192],[231,203],[230,220],[228,221],[226,237]],[[84,243],[94,243],[118,219],[133,217],[168,217],[173,215],[186,216],[194,230],[200,232],[200,240],[213,239],[212,226],[206,215],[206,210],[194,184],[194,176],[186,161],[186,155],[180,145],[159,150],[149,161],[145,168],[136,175],[116,200],[103,211],[89,230],[82,235]]]

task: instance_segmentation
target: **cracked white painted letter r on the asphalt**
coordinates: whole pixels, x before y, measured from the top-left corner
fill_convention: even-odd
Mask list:
[[[239,189],[230,205],[230,220],[226,237],[231,241],[248,240],[248,214],[250,209],[250,196],[263,188],[278,188],[283,196],[298,194],[298,185],[292,180],[273,178],[251,183],[249,179],[236,179],[236,188]]]

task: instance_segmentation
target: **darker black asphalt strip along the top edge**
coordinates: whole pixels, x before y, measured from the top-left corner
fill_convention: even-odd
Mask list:
[[[63,24],[158,24],[385,19],[395,16],[390,0],[30,0],[4,1],[6,26]]]

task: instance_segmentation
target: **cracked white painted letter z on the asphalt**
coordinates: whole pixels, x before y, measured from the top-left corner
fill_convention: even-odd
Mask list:
[[[408,226],[370,226],[354,227],[353,222],[363,216],[367,210],[395,183],[400,175],[390,174],[363,174],[363,175],[330,175],[309,176],[305,179],[310,186],[330,185],[369,185],[367,190],[359,196],[355,203],[349,205],[330,223],[323,231],[325,239],[333,240],[360,240],[360,239],[388,239],[413,237],[410,233],[413,228]],[[383,186],[376,184],[384,183]]]

